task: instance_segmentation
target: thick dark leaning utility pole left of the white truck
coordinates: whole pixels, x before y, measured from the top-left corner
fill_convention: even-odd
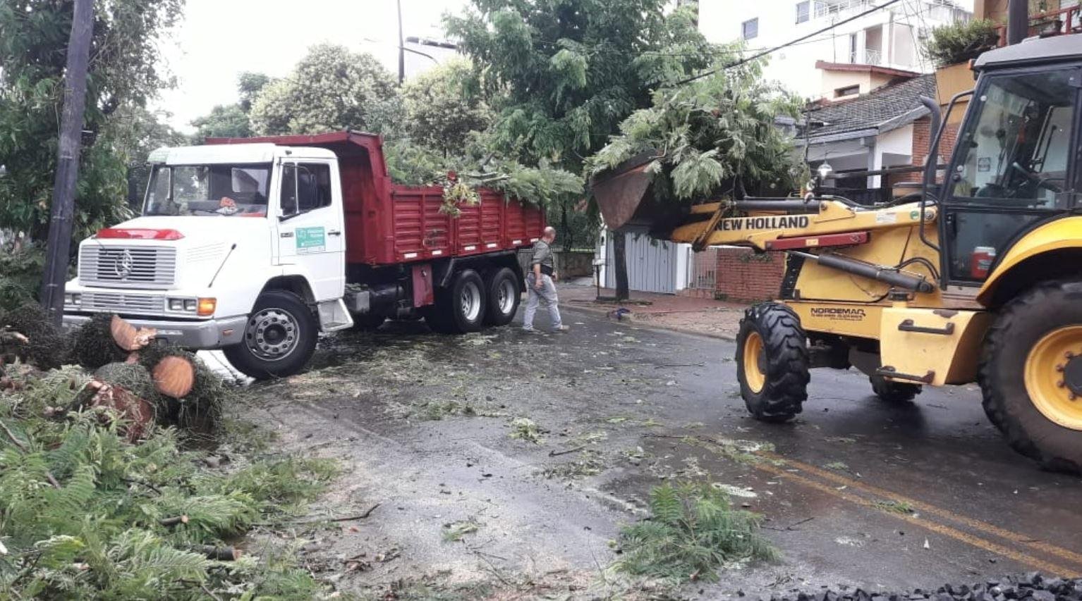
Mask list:
[[[90,62],[90,39],[93,32],[94,0],[75,0],[67,68],[64,71],[64,113],[61,118],[56,177],[53,181],[53,203],[49,216],[45,273],[41,282],[41,305],[56,325],[61,324],[64,317],[64,283],[67,280],[68,252],[71,248],[71,215],[75,212],[79,147],[87,107],[87,64]]]

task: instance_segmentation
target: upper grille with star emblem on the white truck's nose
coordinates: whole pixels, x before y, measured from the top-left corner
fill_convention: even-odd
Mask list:
[[[176,249],[84,244],[79,282],[114,288],[169,286],[176,276]]]

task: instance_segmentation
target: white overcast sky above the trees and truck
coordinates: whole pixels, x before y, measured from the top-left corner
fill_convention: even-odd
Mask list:
[[[401,0],[405,36],[441,38],[440,15],[465,0]],[[316,43],[330,41],[374,54],[398,70],[395,0],[187,0],[183,23],[162,53],[177,86],[162,93],[158,108],[184,132],[214,105],[237,99],[241,71],[285,76]],[[430,54],[439,54],[438,49]],[[407,53],[408,72],[431,61]]]

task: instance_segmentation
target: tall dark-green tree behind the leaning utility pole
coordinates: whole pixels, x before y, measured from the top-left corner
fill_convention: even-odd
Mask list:
[[[94,4],[76,189],[75,236],[127,218],[130,160],[122,110],[144,107],[171,78],[159,69],[162,35],[180,17],[183,0],[98,0]],[[41,239],[48,230],[63,72],[71,5],[53,0],[0,3],[0,227]]]

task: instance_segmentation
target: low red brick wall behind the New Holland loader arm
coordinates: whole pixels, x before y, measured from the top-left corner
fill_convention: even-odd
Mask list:
[[[777,298],[784,273],[784,253],[718,249],[716,298],[744,303]]]

